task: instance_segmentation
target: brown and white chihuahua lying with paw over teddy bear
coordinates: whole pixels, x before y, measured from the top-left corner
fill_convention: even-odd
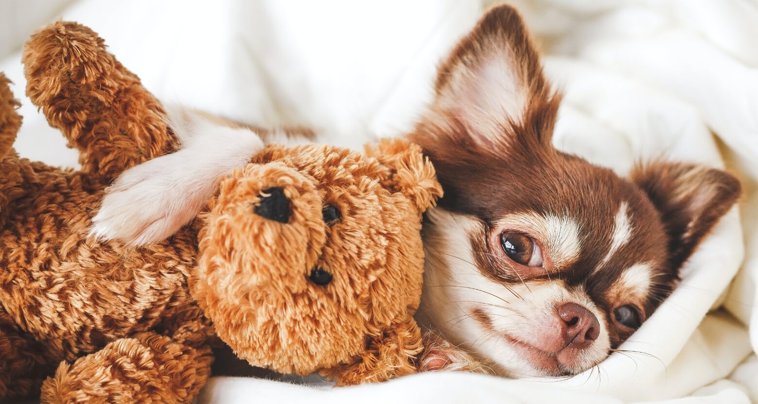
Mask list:
[[[459,42],[435,89],[409,134],[445,192],[424,224],[419,319],[498,374],[559,376],[597,365],[669,295],[681,265],[741,193],[735,177],[713,168],[659,161],[627,179],[556,150],[561,97],[508,6],[490,10]],[[193,128],[195,137],[218,132],[208,121]],[[173,233],[214,192],[208,184],[262,147],[237,131],[221,130],[222,149],[213,149],[218,136],[191,140],[127,171],[93,231],[138,244]],[[452,346],[438,348],[428,368],[457,360]]]

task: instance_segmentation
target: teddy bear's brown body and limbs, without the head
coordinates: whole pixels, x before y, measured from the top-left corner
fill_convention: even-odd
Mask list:
[[[52,168],[10,149],[21,120],[0,77],[0,397],[38,392],[56,368],[45,402],[195,396],[210,373],[214,335],[186,286],[198,227],[143,249],[89,236],[111,179],[171,151],[175,139],[161,106],[102,39],[75,24],[36,33],[24,63],[30,97],[80,149],[82,170]],[[121,138],[97,139],[107,127]],[[130,372],[155,377],[153,387],[130,385]],[[173,380],[161,383],[161,375]]]

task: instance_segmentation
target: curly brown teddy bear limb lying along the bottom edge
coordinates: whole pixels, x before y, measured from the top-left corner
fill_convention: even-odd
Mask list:
[[[153,332],[108,343],[103,349],[61,363],[42,384],[42,403],[188,403],[211,373],[204,333],[185,324],[177,336]],[[177,340],[193,335],[182,343]]]

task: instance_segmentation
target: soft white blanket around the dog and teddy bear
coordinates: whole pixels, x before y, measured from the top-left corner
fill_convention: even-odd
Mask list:
[[[758,2],[515,3],[548,75],[565,91],[557,147],[619,173],[639,158],[663,156],[725,167],[744,182],[741,205],[685,265],[681,286],[622,346],[635,352],[568,379],[418,374],[317,389],[215,377],[200,402],[758,402]],[[431,97],[437,62],[482,7],[83,0],[62,17],[99,32],[166,102],[255,123],[305,124],[357,146],[367,133],[412,127]],[[20,55],[0,69],[21,96]],[[22,102],[20,153],[74,165],[76,153]]]

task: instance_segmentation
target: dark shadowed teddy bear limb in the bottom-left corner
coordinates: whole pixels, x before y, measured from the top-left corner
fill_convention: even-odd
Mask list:
[[[54,369],[44,352],[0,307],[0,402],[39,394],[42,381]]]

